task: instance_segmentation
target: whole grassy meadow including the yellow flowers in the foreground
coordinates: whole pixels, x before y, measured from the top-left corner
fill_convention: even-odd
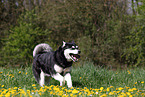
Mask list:
[[[73,88],[60,87],[51,79],[50,84],[40,87],[32,68],[0,68],[0,97],[45,97],[49,96],[145,96],[145,69],[107,70],[91,63],[74,66],[72,69]]]

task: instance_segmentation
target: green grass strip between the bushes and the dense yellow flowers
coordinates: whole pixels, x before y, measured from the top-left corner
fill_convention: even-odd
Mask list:
[[[114,89],[120,87],[136,88],[142,90],[142,92],[145,89],[145,69],[143,68],[112,71],[94,66],[91,63],[85,63],[82,66],[74,66],[71,75],[75,89],[83,89],[84,87],[88,89],[100,89],[101,87],[107,89],[110,86],[113,86]],[[36,89],[41,88],[33,77],[31,67],[25,69],[0,68],[0,94],[4,89],[14,87],[31,91],[34,90],[33,84],[36,85]],[[51,85],[57,86],[59,82],[51,79],[48,86]]]

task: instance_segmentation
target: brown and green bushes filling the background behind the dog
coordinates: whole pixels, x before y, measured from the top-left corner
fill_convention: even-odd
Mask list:
[[[55,50],[63,40],[74,40],[79,45],[82,61],[105,66],[144,64],[144,0],[133,15],[128,14],[125,0],[30,1],[29,5],[19,3],[23,11],[14,5],[22,15],[13,20],[14,25],[5,29],[7,35],[0,39],[3,66],[29,64],[34,45],[46,42]],[[3,17],[5,7],[0,4]]]

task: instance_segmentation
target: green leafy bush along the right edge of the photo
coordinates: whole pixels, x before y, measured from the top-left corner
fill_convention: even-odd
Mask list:
[[[126,63],[134,66],[144,66],[145,64],[145,1],[138,8],[139,14],[136,16],[135,25],[126,36],[128,48],[124,55]]]

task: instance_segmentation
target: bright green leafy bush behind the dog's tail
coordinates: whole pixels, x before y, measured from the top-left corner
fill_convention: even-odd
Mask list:
[[[11,33],[3,47],[3,65],[22,66],[32,62],[32,52],[36,44],[41,43],[46,31],[36,25],[36,14],[27,12],[19,19],[19,25],[11,27]],[[8,62],[7,62],[8,61]]]

